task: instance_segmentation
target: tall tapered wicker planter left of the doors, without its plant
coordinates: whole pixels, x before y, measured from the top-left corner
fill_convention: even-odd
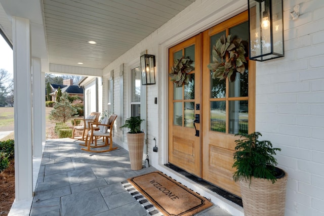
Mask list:
[[[128,151],[131,160],[131,169],[139,170],[143,168],[143,149],[144,133],[130,134],[127,133]]]

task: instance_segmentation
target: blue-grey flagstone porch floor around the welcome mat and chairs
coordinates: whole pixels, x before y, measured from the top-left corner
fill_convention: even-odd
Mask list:
[[[121,182],[156,170],[132,170],[128,151],[91,153],[80,141],[48,140],[30,215],[149,215]],[[195,215],[230,215],[217,205]]]

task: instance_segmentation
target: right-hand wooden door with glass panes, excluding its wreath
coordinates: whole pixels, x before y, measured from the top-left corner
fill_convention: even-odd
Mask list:
[[[248,13],[241,13],[203,34],[203,179],[240,196],[239,186],[232,178],[234,141],[239,138],[234,135],[255,128],[255,63],[248,61]],[[232,82],[228,78],[213,78],[207,66],[213,62],[213,46],[222,35],[241,38],[246,51],[245,71],[236,72]]]

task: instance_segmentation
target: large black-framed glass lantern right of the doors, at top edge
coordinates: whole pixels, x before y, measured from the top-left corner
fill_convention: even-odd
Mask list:
[[[284,57],[282,0],[248,0],[250,59],[266,61]]]

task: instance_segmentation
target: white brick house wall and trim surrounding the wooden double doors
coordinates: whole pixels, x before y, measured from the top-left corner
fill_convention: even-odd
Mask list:
[[[290,12],[297,4],[301,15],[293,21]],[[147,138],[150,162],[155,167],[168,171],[161,165],[168,161],[168,105],[165,100],[168,97],[168,48],[244,10],[247,10],[245,0],[197,0],[104,69],[104,76],[114,70],[114,110],[124,109],[127,117],[130,115],[128,63],[137,61],[139,64],[140,53],[144,50],[155,55],[156,84],[147,86]],[[279,166],[289,174],[286,215],[324,215],[323,23],[323,0],[284,0],[285,57],[257,63],[256,131],[282,149],[276,157]],[[119,65],[123,63],[124,108],[119,103],[118,75]],[[157,104],[154,104],[155,97]],[[124,135],[117,130],[114,136]],[[151,150],[154,137],[158,153]],[[211,196],[204,190],[199,192]],[[218,204],[233,215],[242,215],[226,202]]]

